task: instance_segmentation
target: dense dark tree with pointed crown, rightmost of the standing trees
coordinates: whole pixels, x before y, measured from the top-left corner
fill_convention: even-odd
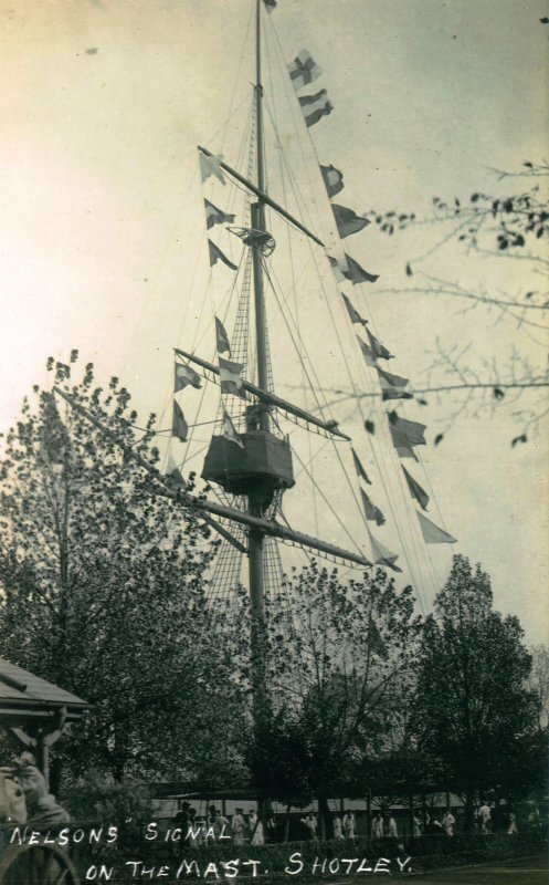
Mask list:
[[[518,620],[493,610],[488,575],[455,555],[425,622],[414,726],[419,747],[465,793],[468,829],[475,792],[509,785],[521,741],[532,733],[529,670]]]

